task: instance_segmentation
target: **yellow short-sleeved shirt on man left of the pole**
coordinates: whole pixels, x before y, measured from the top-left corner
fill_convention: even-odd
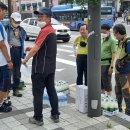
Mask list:
[[[85,47],[80,46],[80,42],[86,42],[87,45]],[[84,38],[82,36],[78,36],[76,40],[74,41],[74,45],[77,46],[77,54],[88,54],[88,38]]]

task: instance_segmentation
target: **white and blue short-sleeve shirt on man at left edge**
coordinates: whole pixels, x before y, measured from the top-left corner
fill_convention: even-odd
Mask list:
[[[7,33],[6,33],[5,28],[1,22],[0,22],[0,41],[4,41],[4,43],[7,47],[8,54],[10,56],[10,48],[9,48],[9,44],[7,41]],[[6,61],[2,51],[0,49],[0,66],[4,66],[4,65],[7,65],[7,61]]]

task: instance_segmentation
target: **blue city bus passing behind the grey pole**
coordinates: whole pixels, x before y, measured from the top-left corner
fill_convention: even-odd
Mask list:
[[[88,15],[88,6],[83,8],[78,5],[66,4],[56,5],[51,8],[53,17],[70,28],[70,30],[79,30],[80,25],[84,23],[84,18]],[[114,9],[112,6],[101,6],[101,24],[113,26]]]

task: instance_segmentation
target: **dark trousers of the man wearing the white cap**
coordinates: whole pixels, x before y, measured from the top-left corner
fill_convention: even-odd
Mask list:
[[[12,76],[13,76],[13,84],[12,89],[13,91],[18,90],[19,84],[20,84],[20,67],[21,67],[21,47],[12,47],[10,49],[11,52],[11,60],[13,63],[13,70],[12,70]]]

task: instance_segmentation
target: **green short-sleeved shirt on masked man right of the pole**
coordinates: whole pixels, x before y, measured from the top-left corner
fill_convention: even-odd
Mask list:
[[[116,52],[116,43],[117,41],[111,36],[107,41],[101,40],[101,59],[112,58],[112,53]],[[110,61],[101,61],[101,65],[110,65]]]

